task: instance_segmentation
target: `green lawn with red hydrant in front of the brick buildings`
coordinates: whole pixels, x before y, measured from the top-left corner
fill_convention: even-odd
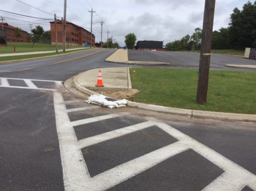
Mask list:
[[[0,46],[0,53],[15,53],[14,46],[16,46],[16,52],[29,52],[29,51],[46,51],[46,50],[55,50],[56,46],[52,44],[44,43],[35,43],[32,48],[32,43],[26,42],[7,42],[7,46]],[[58,46],[59,49],[62,49],[62,45]],[[79,48],[84,47],[80,45],[72,45],[69,48]],[[68,46],[66,46],[68,48]]]

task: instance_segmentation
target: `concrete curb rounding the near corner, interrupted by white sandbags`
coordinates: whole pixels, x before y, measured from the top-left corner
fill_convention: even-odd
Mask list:
[[[96,94],[100,95],[97,92],[94,92],[86,87],[81,86],[77,78],[82,75],[84,72],[77,74],[73,78],[73,83],[75,87],[88,94]],[[153,110],[158,112],[166,112],[171,114],[179,114],[179,115],[186,115],[190,117],[197,117],[197,118],[212,118],[212,119],[220,119],[220,120],[231,120],[231,121],[245,121],[245,122],[256,122],[256,114],[240,114],[240,113],[227,113],[227,112],[214,112],[214,111],[203,111],[203,110],[193,110],[193,109],[183,109],[183,108],[175,108],[175,107],[167,107],[167,106],[160,106],[160,105],[153,105],[153,104],[146,104],[146,103],[139,103],[128,101],[128,106],[144,108],[147,110]]]

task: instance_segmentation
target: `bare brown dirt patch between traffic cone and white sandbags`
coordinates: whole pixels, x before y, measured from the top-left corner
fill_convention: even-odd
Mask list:
[[[139,92],[138,89],[107,89],[94,91],[115,99],[128,99],[131,101],[133,100],[134,95]]]

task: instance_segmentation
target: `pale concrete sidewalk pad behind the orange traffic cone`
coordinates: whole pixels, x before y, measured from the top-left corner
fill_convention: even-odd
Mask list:
[[[104,88],[132,88],[129,68],[102,68],[101,75]],[[95,87],[97,79],[98,69],[91,69],[80,74],[76,80],[83,87]]]

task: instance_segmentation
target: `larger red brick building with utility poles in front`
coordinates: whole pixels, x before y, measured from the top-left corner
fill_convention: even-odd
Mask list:
[[[51,43],[56,44],[55,24],[51,23]],[[62,44],[62,20],[57,20],[58,44]],[[90,45],[90,32],[81,26],[66,21],[66,45]],[[92,34],[92,46],[95,46],[95,35]]]

